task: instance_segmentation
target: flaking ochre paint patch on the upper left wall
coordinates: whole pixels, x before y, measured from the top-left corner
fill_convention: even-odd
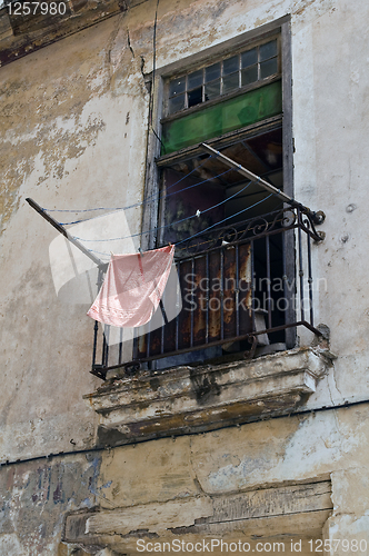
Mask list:
[[[101,56],[91,49],[83,57],[79,50],[71,48],[68,52],[67,48],[58,64],[52,66],[46,49],[31,61],[19,60],[17,77],[21,75],[21,79],[14,79],[12,64],[3,73],[0,231],[19,208],[20,188],[29,186],[36,169],[36,185],[48,178],[60,180],[66,161],[80,157],[104,129],[101,115],[88,107],[109,89],[108,69],[96,60]]]

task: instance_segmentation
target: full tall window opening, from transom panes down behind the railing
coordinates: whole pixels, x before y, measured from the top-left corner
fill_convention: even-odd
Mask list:
[[[250,220],[281,208],[281,202],[275,197],[270,198],[260,186],[248,185],[248,181],[236,170],[225,173],[227,168],[220,160],[209,157],[197,148],[201,142],[211,141],[212,147],[232,160],[275,187],[283,189],[279,34],[255,41],[236,53],[170,78],[164,86],[164,95],[167,100],[164,101],[164,117],[161,120],[161,157],[157,161],[160,168],[161,191],[158,247],[168,242],[184,242],[186,245],[187,238],[207,228],[211,228],[211,231],[202,239],[211,244],[219,232],[217,222],[227,221],[227,227],[233,227],[238,232],[246,219]],[[186,177],[187,175],[189,177]],[[181,178],[181,182],[176,186],[174,183]],[[197,183],[205,180],[208,181],[197,187]],[[166,197],[169,189],[170,192],[177,191],[177,195]],[[181,191],[182,189],[184,191]],[[212,210],[208,210],[215,205]],[[198,214],[198,218],[189,218],[179,225],[171,226],[171,222],[183,220],[193,214]],[[273,216],[268,218],[272,219]],[[216,245],[219,247],[219,241]],[[191,264],[189,261],[179,264],[181,289],[184,292],[188,288],[183,282],[183,276],[191,272],[195,272],[197,281],[206,277],[206,279],[218,278],[223,282],[228,279],[228,284],[237,272],[237,280],[241,282],[241,286],[247,282],[249,291],[236,291],[239,288],[235,285],[227,291],[222,289],[218,294],[206,292],[207,304],[212,302],[212,307],[220,301],[220,297],[223,299],[227,294],[231,299],[230,305],[235,308],[229,312],[225,311],[223,307],[218,311],[203,310],[199,307],[189,311],[184,301],[177,324],[172,322],[167,326],[168,349],[180,350],[187,346],[206,345],[208,341],[221,341],[227,337],[245,336],[255,328],[256,316],[250,305],[251,284],[259,275],[268,275],[270,281],[277,275],[282,276],[282,238],[280,235],[268,237],[268,239],[260,238],[252,246],[251,244],[240,245],[236,250],[237,256],[236,251],[232,254],[231,250],[218,250],[192,259]],[[176,249],[178,260],[181,259],[181,254],[186,254],[186,248],[181,249],[179,246]],[[255,295],[256,299],[252,300],[252,304],[260,304],[257,318],[261,321],[263,320],[262,298],[266,294],[271,298],[273,296],[270,286],[267,287],[267,291],[265,291],[266,287],[260,285],[259,291]],[[191,295],[198,294],[199,291],[197,294],[192,291]],[[236,306],[237,302],[242,301],[242,296],[246,310],[240,318]],[[268,302],[270,309],[273,299]],[[190,312],[190,316],[186,315],[186,311]],[[268,328],[267,325],[269,328],[282,326],[285,316],[280,312],[275,311],[271,321],[269,311],[269,322],[265,324],[265,328]],[[180,334],[178,334],[179,330]],[[260,340],[261,337],[259,344]],[[283,331],[276,332],[271,338],[273,342],[283,340]],[[269,342],[269,338],[265,338],[266,341]],[[136,354],[138,358],[148,353],[148,344],[149,350],[160,349],[160,331],[140,339]],[[215,355],[222,356],[227,350],[237,351],[249,348],[250,344],[243,339],[230,342],[228,346],[212,347],[201,354],[187,355],[186,360],[188,361],[189,357],[192,360],[207,359]],[[184,363],[179,358],[177,364],[181,361]],[[163,360],[156,368],[166,367],[167,363]]]

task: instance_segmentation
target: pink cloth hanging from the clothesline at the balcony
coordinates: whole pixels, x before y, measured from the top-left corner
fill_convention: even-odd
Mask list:
[[[119,327],[146,325],[164,291],[173,255],[174,246],[142,255],[111,255],[107,276],[88,316]]]

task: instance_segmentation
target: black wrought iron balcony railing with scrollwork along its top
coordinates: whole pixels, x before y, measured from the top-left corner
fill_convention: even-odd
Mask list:
[[[311,245],[320,240],[308,214],[287,208],[182,242],[144,328],[127,340],[127,329],[96,322],[91,373],[104,379],[114,368],[132,375],[230,353],[250,357],[269,344],[291,348],[299,326],[319,335]]]

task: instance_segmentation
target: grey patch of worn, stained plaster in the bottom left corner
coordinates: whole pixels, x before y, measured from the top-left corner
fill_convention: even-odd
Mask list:
[[[11,556],[56,554],[63,515],[96,504],[93,490],[100,459],[32,461],[1,468],[0,487],[7,493],[0,526],[0,554]]]

